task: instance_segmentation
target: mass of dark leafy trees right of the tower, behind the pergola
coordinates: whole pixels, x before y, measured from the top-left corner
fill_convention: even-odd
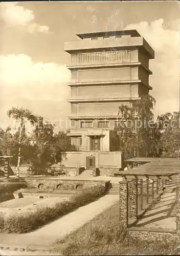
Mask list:
[[[115,144],[132,157],[178,157],[180,112],[153,116],[155,99],[151,95],[134,101],[132,108],[119,106],[115,127]]]

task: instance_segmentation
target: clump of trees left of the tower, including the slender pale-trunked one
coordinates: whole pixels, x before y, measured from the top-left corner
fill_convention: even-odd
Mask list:
[[[17,173],[21,163],[49,166],[61,161],[65,152],[71,150],[68,130],[55,133],[53,123],[28,109],[12,107],[7,115],[16,122],[6,130],[0,128],[0,155],[13,156],[11,164],[17,166]],[[31,124],[31,132],[26,131],[27,124]]]

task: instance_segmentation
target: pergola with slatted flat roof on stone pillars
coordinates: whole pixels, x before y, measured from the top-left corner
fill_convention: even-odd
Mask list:
[[[138,200],[140,211],[145,204],[149,205],[155,198],[162,194],[165,181],[172,181],[176,193],[176,234],[180,226],[180,192],[179,192],[179,159],[178,158],[131,158],[125,162],[132,168],[123,170],[117,176],[123,177],[120,182],[120,222],[129,227],[138,218]],[[136,167],[135,167],[136,166]],[[151,180],[151,182],[150,182]],[[151,200],[151,202],[149,201]]]

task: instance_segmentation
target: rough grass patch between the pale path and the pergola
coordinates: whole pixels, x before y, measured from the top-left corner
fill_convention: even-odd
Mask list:
[[[128,237],[119,226],[119,203],[54,245],[63,248],[63,255],[168,255],[177,246],[166,241],[146,242]]]

